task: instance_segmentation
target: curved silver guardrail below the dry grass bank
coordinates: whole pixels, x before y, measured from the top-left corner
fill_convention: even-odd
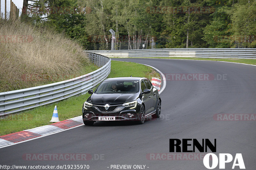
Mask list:
[[[95,65],[103,67],[73,79],[0,93],[0,116],[57,102],[92,89],[107,78],[111,59],[94,53],[88,55]]]

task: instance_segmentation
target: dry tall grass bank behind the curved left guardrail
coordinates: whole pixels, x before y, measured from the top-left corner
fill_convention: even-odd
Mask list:
[[[96,68],[82,50],[72,40],[47,29],[0,21],[0,92],[91,72]]]

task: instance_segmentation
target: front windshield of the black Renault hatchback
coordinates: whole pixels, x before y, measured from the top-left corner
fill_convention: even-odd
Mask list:
[[[95,93],[137,93],[139,81],[104,81]]]

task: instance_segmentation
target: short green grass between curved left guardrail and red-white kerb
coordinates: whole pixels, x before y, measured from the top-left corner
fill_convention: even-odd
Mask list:
[[[129,77],[130,75],[149,79],[152,77],[160,78],[160,75],[151,67],[131,62],[111,61],[111,72],[108,77]],[[0,136],[52,124],[49,121],[52,118],[55,105],[57,105],[60,121],[80,116],[83,103],[89,96],[89,94],[74,96],[60,102],[39,106],[20,114],[5,117],[0,120]]]

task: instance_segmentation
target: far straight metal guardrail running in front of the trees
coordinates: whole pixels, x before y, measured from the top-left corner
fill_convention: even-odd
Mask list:
[[[88,51],[107,57],[199,57],[256,59],[255,48],[164,48]]]

